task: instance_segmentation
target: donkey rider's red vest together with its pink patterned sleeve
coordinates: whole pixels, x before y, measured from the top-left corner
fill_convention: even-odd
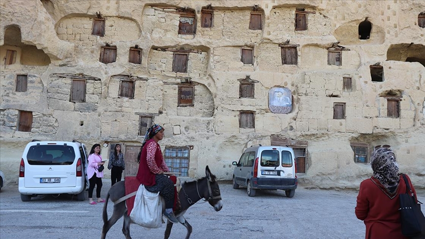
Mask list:
[[[161,170],[170,172],[162,157],[158,143],[150,139],[142,149],[136,179],[146,186],[153,186],[155,185],[155,175]]]

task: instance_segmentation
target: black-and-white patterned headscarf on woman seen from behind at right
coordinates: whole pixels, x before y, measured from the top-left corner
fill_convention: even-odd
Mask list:
[[[370,165],[372,166],[373,177],[389,192],[393,193],[397,189],[400,179],[393,150],[391,148],[376,149],[370,155],[370,158],[372,159]]]

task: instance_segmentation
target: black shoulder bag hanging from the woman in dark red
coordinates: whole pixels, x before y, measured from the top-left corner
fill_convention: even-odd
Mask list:
[[[406,237],[425,238],[425,216],[421,211],[421,202],[416,203],[415,194],[410,188],[409,181],[401,175],[406,183],[406,193],[400,194],[401,233]]]

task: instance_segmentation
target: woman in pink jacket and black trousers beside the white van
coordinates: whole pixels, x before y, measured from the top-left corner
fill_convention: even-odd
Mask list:
[[[94,185],[96,185],[96,197],[98,203],[105,202],[104,199],[100,197],[100,190],[102,189],[102,178],[103,178],[103,171],[99,172],[100,165],[103,165],[104,162],[102,162],[102,157],[99,154],[100,152],[100,145],[94,144],[93,147],[91,147],[90,154],[89,154],[89,166],[87,167],[87,177],[89,178],[90,186],[89,186],[89,203],[91,205],[95,205],[96,202],[93,201],[93,190]]]

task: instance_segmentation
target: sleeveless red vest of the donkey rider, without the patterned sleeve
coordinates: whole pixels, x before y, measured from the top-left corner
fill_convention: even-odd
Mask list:
[[[155,151],[155,163],[156,166],[159,169],[163,168],[163,157],[161,153],[161,148],[159,148],[159,144],[156,143],[153,139],[150,139],[146,142],[145,146],[142,149],[142,154],[140,155],[140,163],[139,163],[139,170],[137,171],[136,179],[139,180],[140,183],[146,185],[146,186],[153,186],[155,185],[155,175],[152,173],[151,169],[148,166],[148,162],[146,160],[148,156],[148,145],[149,144],[156,144],[156,151]]]

